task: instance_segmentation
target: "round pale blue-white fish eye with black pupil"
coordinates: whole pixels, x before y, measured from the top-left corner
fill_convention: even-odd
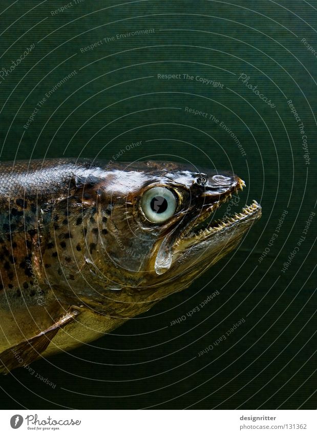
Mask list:
[[[175,213],[176,205],[173,192],[161,187],[147,190],[141,199],[142,211],[151,222],[170,219]]]

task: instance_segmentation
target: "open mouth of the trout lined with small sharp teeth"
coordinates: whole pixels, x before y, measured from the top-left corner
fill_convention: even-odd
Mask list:
[[[186,233],[182,235],[182,241],[197,243],[200,240],[207,239],[209,236],[211,237],[215,233],[226,231],[231,227],[245,223],[251,219],[260,218],[261,205],[256,200],[253,200],[250,205],[246,205],[240,212],[232,214],[231,212],[233,209],[236,209],[237,203],[234,205],[231,204],[231,206],[227,206],[222,218],[216,220],[211,218],[216,210],[220,209],[225,203],[230,205],[229,200],[232,198],[232,195],[238,194],[244,187],[244,181],[239,179],[237,187],[233,192],[226,194],[218,202],[208,206],[199,214],[191,227],[189,229],[187,228]]]

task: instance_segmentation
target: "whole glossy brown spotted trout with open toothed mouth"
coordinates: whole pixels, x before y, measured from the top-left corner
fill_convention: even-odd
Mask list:
[[[0,164],[0,372],[96,340],[180,292],[261,217],[244,181],[170,161]]]

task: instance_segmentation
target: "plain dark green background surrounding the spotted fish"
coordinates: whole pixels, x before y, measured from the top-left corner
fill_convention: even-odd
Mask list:
[[[0,71],[35,44],[0,84],[1,160],[111,159],[142,140],[121,160],[157,155],[233,170],[247,184],[240,205],[256,198],[263,217],[185,292],[71,355],[33,363],[55,389],[23,369],[1,378],[1,406],[315,409],[316,217],[289,270],[281,269],[315,212],[317,57],[301,40],[317,50],[317,2],[120,3],[85,0],[55,15],[66,1],[1,3]],[[152,28],[80,52],[104,37]],[[73,70],[25,130],[38,101]],[[276,108],[245,87],[242,73]],[[305,126],[309,165],[288,99]],[[246,155],[225,130],[185,107],[223,121]],[[260,263],[283,210],[279,237]],[[199,313],[170,326],[215,290],[219,296]],[[197,357],[241,318],[231,337]]]

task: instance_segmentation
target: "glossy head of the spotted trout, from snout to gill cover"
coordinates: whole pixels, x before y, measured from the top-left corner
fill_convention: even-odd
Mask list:
[[[79,253],[86,284],[71,285],[101,313],[131,317],[188,287],[261,217],[253,201],[239,214],[213,220],[244,186],[232,173],[160,161],[98,171],[94,215],[83,220],[86,240]]]

